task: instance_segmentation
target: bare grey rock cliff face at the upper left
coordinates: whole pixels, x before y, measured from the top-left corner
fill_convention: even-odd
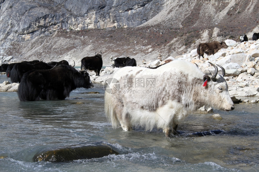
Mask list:
[[[53,29],[104,29],[139,26],[161,11],[159,0],[10,0],[3,1],[4,34],[33,34]]]

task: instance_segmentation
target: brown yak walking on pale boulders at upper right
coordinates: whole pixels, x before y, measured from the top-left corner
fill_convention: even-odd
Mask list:
[[[206,53],[208,56],[214,55],[215,53],[218,52],[221,48],[227,48],[228,46],[226,45],[225,42],[218,42],[218,41],[213,41],[210,43],[200,43],[197,47],[197,54],[202,56],[204,58],[204,53]]]

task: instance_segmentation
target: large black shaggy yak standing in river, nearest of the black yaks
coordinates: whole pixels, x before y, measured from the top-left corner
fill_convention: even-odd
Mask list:
[[[49,70],[33,70],[24,74],[18,87],[20,101],[64,100],[76,88],[92,88],[86,71],[66,65]]]

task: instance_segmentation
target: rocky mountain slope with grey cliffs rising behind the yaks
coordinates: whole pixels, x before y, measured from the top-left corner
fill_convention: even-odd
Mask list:
[[[200,42],[259,32],[257,0],[2,0],[0,63],[44,59],[76,66],[102,52],[114,57],[166,59]]]

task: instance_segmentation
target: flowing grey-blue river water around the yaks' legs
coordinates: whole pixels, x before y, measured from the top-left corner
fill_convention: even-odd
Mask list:
[[[10,80],[0,76],[0,83]],[[99,94],[86,94],[99,92]],[[83,93],[83,94],[82,94]],[[0,171],[259,171],[259,104],[235,110],[190,114],[166,138],[161,129],[113,129],[104,113],[102,84],[79,88],[57,101],[21,102],[17,92],[0,92]],[[194,137],[192,133],[220,130]],[[43,150],[105,143],[120,153],[69,162],[33,162]]]

